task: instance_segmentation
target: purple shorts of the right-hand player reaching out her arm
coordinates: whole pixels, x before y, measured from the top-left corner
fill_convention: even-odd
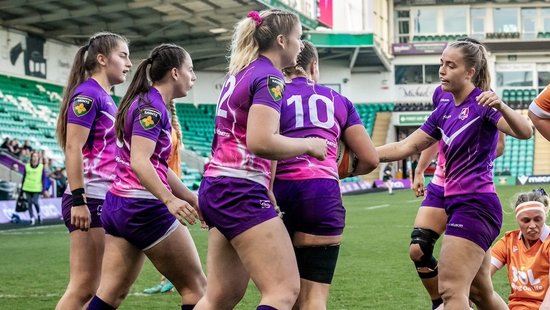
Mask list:
[[[502,207],[495,193],[445,198],[446,235],[464,238],[487,251],[502,227]]]

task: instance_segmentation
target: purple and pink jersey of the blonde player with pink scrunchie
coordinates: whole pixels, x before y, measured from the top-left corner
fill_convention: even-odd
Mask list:
[[[216,111],[212,160],[204,176],[247,179],[268,187],[271,161],[257,157],[246,145],[248,113],[253,104],[279,113],[284,89],[282,73],[263,56],[226,78]]]

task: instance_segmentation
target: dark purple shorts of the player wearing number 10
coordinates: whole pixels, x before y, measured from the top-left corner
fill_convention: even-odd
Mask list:
[[[291,235],[300,231],[318,236],[338,236],[344,231],[346,209],[342,205],[338,181],[277,180],[273,192]]]

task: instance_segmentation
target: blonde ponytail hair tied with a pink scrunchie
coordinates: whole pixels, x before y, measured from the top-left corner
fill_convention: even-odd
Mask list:
[[[250,15],[250,14],[249,14]],[[235,75],[260,52],[269,49],[278,35],[288,35],[300,22],[298,16],[281,10],[265,10],[259,13],[261,22],[252,17],[241,19],[235,26],[229,57],[229,74]]]

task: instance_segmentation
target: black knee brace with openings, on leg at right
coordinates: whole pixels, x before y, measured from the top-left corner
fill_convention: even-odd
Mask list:
[[[437,259],[433,256],[435,242],[439,234],[431,229],[415,227],[411,233],[411,244],[418,244],[422,250],[422,257],[414,261],[418,276],[422,279],[437,276]]]

